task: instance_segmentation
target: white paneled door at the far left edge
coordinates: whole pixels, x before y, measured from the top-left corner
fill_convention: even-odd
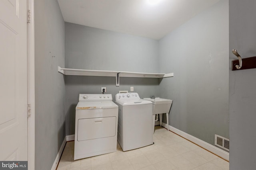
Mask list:
[[[27,0],[0,0],[0,160],[28,160]]]

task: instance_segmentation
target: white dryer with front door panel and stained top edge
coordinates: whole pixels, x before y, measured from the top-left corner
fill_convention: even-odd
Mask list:
[[[74,160],[116,152],[118,106],[112,94],[80,94],[76,106]]]

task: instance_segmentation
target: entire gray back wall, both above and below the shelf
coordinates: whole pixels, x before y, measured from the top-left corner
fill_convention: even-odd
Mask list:
[[[65,23],[66,68],[158,72],[158,41],[134,35]],[[158,96],[158,79],[66,76],[66,135],[74,134],[75,107],[80,93],[99,94],[106,87],[113,100],[119,90],[134,87],[140,98]]]

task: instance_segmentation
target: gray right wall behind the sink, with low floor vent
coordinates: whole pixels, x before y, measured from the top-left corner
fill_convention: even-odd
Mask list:
[[[169,124],[212,145],[229,138],[228,54],[228,0],[159,41],[160,72],[174,72],[159,88],[173,100]]]

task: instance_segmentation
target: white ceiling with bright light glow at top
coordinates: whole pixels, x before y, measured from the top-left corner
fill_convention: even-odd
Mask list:
[[[58,0],[64,21],[161,39],[219,0]]]

